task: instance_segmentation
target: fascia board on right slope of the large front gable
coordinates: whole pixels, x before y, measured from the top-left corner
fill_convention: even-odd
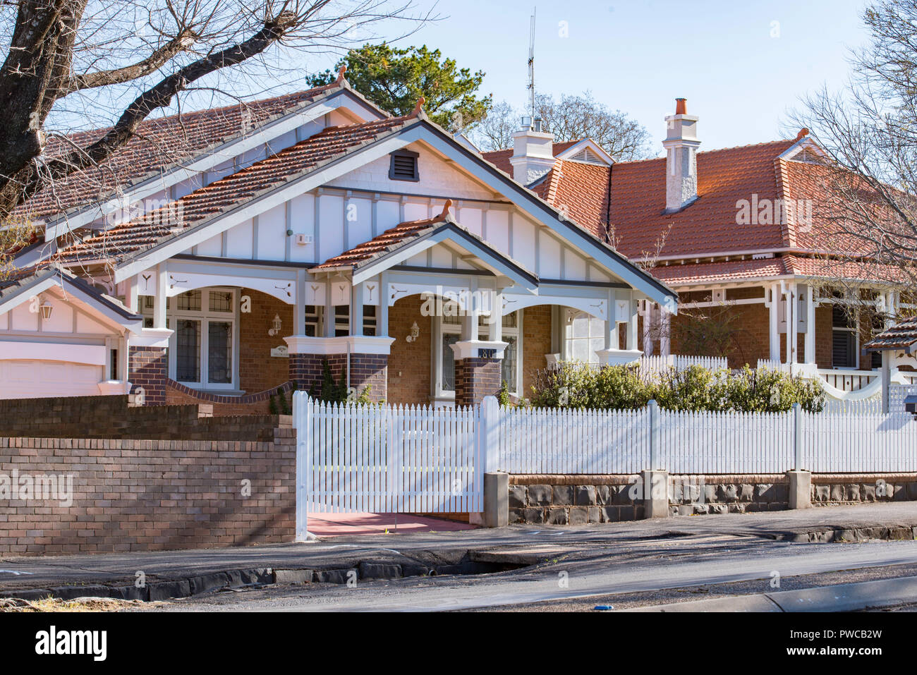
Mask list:
[[[526,215],[534,218],[536,222],[544,223],[547,227],[550,227],[552,231],[563,237],[564,241],[569,246],[572,246],[574,249],[579,249],[588,257],[595,260],[597,264],[602,265],[614,276],[618,277],[632,288],[635,288],[637,291],[644,293],[653,302],[667,307],[677,302],[673,295],[663,290],[663,284],[661,282],[654,283],[647,279],[633,267],[632,263],[620,254],[615,254],[605,249],[599,242],[592,240],[592,236],[575,223],[565,223],[561,221],[558,217],[558,212],[551,206],[542,203],[535,194],[531,193],[531,191],[526,190],[525,187],[512,180],[497,178],[492,171],[499,170],[493,169],[491,164],[486,163],[486,160],[484,160],[486,164],[486,166],[484,166],[464,152],[457,152],[453,146],[447,143],[447,141],[443,138],[439,138],[424,127],[412,127],[402,135],[402,138],[411,138],[411,142],[424,140],[425,143],[436,149],[436,151],[451,157],[462,170],[469,172],[478,181],[490,187],[494,192],[509,196],[516,208],[519,208]]]

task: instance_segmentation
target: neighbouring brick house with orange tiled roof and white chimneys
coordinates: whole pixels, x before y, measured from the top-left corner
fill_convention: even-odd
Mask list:
[[[835,256],[812,227],[822,150],[802,129],[704,152],[698,122],[678,99],[659,159],[614,162],[588,140],[552,144],[550,134],[535,151],[517,134],[513,150],[484,156],[517,180],[535,170],[526,184],[537,194],[678,291],[677,317],[640,304],[646,354],[725,355],[734,368],[820,377],[837,398],[878,393],[878,355],[861,344],[915,305],[893,277]],[[847,311],[850,294],[875,311]]]

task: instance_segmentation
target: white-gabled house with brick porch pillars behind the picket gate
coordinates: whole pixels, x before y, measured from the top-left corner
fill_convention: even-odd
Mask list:
[[[19,215],[43,240],[0,282],[0,398],[255,412],[329,368],[375,400],[471,404],[501,382],[525,395],[556,353],[639,356],[639,307],[674,314],[677,293],[422,103],[389,116],[342,71],[148,120],[116,158],[36,195]],[[521,138],[527,180],[545,134]],[[568,149],[565,166],[610,160]]]

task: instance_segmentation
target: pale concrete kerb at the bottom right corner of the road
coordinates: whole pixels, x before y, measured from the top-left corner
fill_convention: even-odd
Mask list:
[[[917,602],[917,577],[633,607],[621,612],[853,612]]]

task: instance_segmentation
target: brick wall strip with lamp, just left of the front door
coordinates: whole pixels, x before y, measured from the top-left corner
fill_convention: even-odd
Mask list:
[[[430,349],[433,336],[431,316],[423,316],[420,295],[411,295],[389,307],[389,336],[395,338],[389,354],[387,400],[392,404],[430,402]],[[420,335],[408,342],[414,322]]]

